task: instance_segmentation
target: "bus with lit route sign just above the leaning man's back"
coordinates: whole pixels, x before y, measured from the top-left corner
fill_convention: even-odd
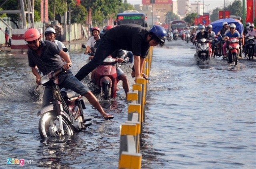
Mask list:
[[[122,24],[138,24],[148,27],[145,14],[139,13],[138,11],[124,11],[123,13],[117,14],[114,25]]]

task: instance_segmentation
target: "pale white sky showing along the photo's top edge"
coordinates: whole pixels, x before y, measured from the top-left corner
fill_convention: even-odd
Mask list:
[[[208,5],[207,7],[205,6],[204,9],[208,8],[208,11],[210,10],[214,10],[217,7],[223,8],[224,5],[224,1],[225,1],[225,6],[228,6],[230,4],[232,4],[234,2],[234,0],[199,0],[201,4],[203,4],[204,1],[204,5]],[[142,0],[127,0],[128,3],[130,4],[141,4]],[[241,0],[242,2],[242,0]],[[195,4],[197,3],[197,0],[190,0],[189,1],[190,4]]]

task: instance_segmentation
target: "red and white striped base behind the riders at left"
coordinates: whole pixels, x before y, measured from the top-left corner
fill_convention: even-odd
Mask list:
[[[17,50],[17,51],[27,51],[28,46],[26,45],[26,42],[24,41],[24,33],[28,29],[12,29],[12,46],[11,50]],[[42,29],[38,29],[38,31],[41,33],[42,36]]]

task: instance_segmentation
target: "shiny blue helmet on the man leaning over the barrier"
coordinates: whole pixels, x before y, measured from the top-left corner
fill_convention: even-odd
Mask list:
[[[149,30],[150,35],[152,35],[152,39],[158,40],[160,42],[160,46],[164,45],[166,39],[166,31],[162,26],[153,25],[153,27]]]

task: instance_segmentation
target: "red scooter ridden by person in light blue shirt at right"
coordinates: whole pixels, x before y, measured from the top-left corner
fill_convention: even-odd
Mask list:
[[[238,56],[239,56],[239,38],[231,37],[228,39],[228,62],[234,64],[235,66],[238,63]]]

